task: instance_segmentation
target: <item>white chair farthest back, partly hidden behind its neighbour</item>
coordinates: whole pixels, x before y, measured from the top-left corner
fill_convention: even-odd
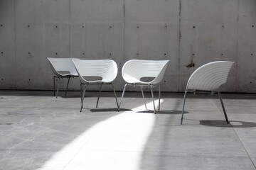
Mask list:
[[[57,91],[56,98],[58,98],[58,91],[60,86],[60,78],[67,78],[68,84],[70,81],[70,77],[78,77],[78,72],[75,70],[75,66],[73,64],[73,59],[77,58],[47,58],[50,62],[50,67],[53,70],[53,95],[55,96],[55,79],[58,78],[57,81]],[[67,94],[68,84],[65,89],[65,95]]]

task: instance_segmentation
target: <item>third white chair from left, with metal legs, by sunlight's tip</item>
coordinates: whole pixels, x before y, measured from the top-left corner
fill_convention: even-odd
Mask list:
[[[130,86],[140,86],[142,90],[142,97],[144,99],[145,107],[146,101],[144,98],[143,87],[148,86],[151,90],[151,96],[154,105],[154,113],[156,114],[156,107],[154,103],[153,88],[159,86],[159,110],[160,110],[160,98],[161,98],[161,88],[160,81],[164,78],[164,73],[168,66],[169,60],[129,60],[124,63],[122,67],[122,77],[127,84],[124,85],[124,90],[122,92],[122,98],[124,97],[124,92],[127,85]],[[151,79],[145,81],[144,79]],[[119,103],[119,109],[121,108],[122,98]],[[147,109],[147,108],[146,108]]]

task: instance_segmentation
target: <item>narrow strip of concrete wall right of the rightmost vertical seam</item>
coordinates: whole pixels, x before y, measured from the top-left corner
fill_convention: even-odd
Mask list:
[[[237,91],[256,92],[256,2],[246,0],[239,6]]]

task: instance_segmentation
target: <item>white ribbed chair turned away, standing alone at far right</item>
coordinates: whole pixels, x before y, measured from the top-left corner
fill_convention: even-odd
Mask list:
[[[186,94],[188,92],[196,93],[196,91],[210,91],[212,94],[218,93],[220,103],[225,115],[225,120],[227,121],[227,123],[229,123],[228,115],[225,111],[224,103],[218,88],[226,83],[228,79],[228,73],[230,72],[233,64],[234,62],[226,61],[209,62],[208,64],[204,64],[203,66],[199,67],[198,69],[196,69],[195,72],[193,72],[193,74],[191,74],[191,77],[188,79],[186,91],[183,98],[181,124],[183,122]]]

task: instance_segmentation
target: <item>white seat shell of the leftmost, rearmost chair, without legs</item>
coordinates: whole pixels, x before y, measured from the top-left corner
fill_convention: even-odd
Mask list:
[[[56,76],[73,75],[78,76],[78,72],[75,69],[73,59],[78,58],[47,58],[50,62],[50,67],[53,70],[53,74]]]

